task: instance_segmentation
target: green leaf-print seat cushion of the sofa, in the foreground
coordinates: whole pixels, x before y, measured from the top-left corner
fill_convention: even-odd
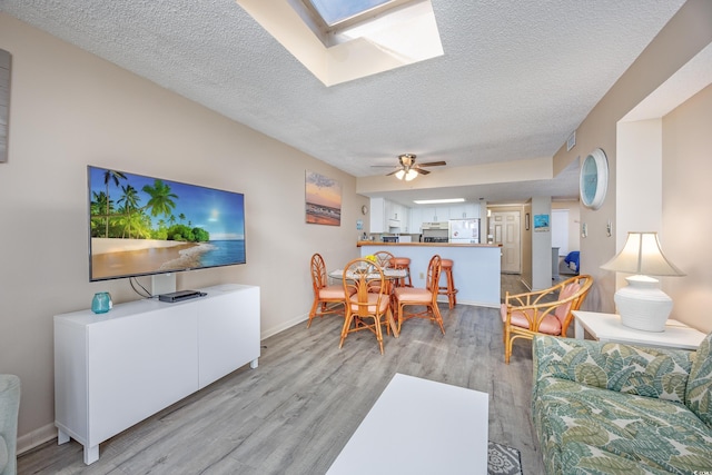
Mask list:
[[[533,402],[547,473],[709,471],[712,433],[683,404],[546,378]]]

